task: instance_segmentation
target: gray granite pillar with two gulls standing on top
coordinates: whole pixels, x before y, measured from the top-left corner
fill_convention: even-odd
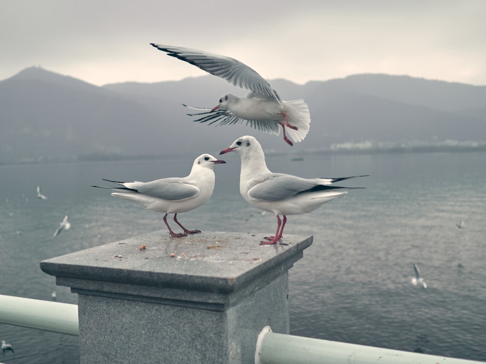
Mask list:
[[[289,333],[288,270],[312,244],[261,235],[158,231],[40,266],[78,294],[82,364],[254,363],[264,326]]]

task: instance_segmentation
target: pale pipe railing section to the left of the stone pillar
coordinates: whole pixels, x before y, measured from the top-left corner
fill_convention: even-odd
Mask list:
[[[0,295],[0,323],[79,335],[78,306]]]

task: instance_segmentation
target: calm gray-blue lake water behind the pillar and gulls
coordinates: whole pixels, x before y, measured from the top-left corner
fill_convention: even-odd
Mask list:
[[[185,176],[194,157],[160,161],[0,166],[0,294],[77,303],[41,260],[165,229],[162,215],[94,189],[101,178]],[[190,229],[273,234],[276,218],[239,195],[240,160],[217,165],[207,204],[181,214]],[[290,271],[291,333],[486,361],[486,153],[268,156],[303,177],[371,177],[285,232],[314,236]],[[36,198],[40,184],[47,200]],[[71,229],[52,233],[69,215]],[[456,227],[464,220],[462,229]],[[413,286],[417,263],[428,288]],[[277,308],[276,308],[277,309]],[[78,338],[0,325],[4,363],[78,363]]]

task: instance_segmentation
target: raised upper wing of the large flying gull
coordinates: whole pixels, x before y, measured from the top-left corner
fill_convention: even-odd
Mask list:
[[[205,52],[204,50],[193,50],[191,48],[163,44],[150,44],[158,50],[167,52],[169,56],[188,62],[214,76],[221,77],[235,86],[259,92],[279,102],[278,95],[276,95],[270,84],[257,71],[234,58]]]

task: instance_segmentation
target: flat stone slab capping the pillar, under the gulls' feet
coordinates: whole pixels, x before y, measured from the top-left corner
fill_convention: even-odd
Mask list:
[[[47,259],[57,278],[229,293],[278,265],[289,269],[312,236],[260,246],[261,233],[202,232],[174,238],[165,230]],[[143,245],[146,247],[143,248]]]

